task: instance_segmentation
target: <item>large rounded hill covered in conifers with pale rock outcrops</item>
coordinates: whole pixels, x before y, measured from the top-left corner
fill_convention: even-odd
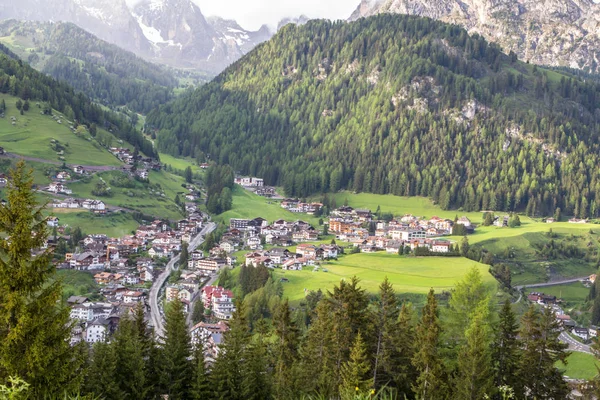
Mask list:
[[[443,208],[600,215],[600,85],[430,19],[289,25],[150,113],[158,147],[291,196],[348,188]]]

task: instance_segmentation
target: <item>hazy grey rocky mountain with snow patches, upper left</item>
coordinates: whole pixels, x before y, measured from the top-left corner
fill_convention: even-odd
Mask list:
[[[72,22],[148,60],[216,74],[272,34],[207,21],[191,0],[0,0],[3,19]],[[239,32],[238,32],[239,31]]]

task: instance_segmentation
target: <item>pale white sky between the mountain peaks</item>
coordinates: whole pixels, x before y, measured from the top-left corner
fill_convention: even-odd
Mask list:
[[[346,19],[360,0],[194,0],[205,16],[235,19],[242,28],[275,27],[286,17]]]

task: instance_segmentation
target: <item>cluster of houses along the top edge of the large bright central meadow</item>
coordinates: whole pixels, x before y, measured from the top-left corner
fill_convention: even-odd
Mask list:
[[[472,229],[471,221],[461,217],[457,224]],[[340,207],[331,212],[328,230],[336,239],[352,243],[363,252],[387,251],[398,253],[409,247],[411,250],[427,248],[433,253],[448,253],[452,243],[440,239],[452,234],[454,221],[439,217],[421,219],[406,214],[392,221],[378,221],[370,210]]]

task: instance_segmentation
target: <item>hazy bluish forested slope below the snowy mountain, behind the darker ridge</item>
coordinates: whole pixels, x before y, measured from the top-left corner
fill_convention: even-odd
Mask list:
[[[34,68],[107,106],[147,113],[172,99],[177,79],[166,67],[98,39],[69,23],[0,24],[0,41]]]

